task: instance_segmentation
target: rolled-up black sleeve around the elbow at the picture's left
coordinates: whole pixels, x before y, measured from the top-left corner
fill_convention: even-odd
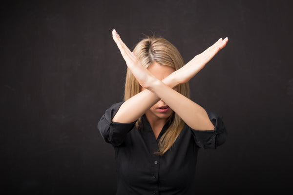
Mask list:
[[[113,146],[121,145],[125,140],[126,134],[136,123],[136,121],[131,123],[119,123],[112,121],[122,104],[123,102],[115,103],[107,109],[97,125],[105,142],[111,143]]]

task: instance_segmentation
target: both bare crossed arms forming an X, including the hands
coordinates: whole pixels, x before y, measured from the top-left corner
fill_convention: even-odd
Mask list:
[[[156,102],[162,99],[185,123],[196,130],[213,130],[214,126],[209,120],[205,109],[172,88],[186,83],[194,77],[212,59],[216,53],[226,46],[228,38],[219,39],[203,53],[195,56],[185,66],[170,74],[167,78],[159,80],[144,67],[139,59],[128,49],[115,30],[112,32],[127,67],[144,90],[126,100],[119,108],[112,121],[129,123],[143,116]],[[135,109],[134,109],[135,108]]]

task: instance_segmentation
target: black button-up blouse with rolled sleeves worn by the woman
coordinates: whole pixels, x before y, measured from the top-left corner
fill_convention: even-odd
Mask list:
[[[228,135],[222,117],[204,108],[213,130],[199,131],[185,124],[173,146],[163,155],[158,151],[158,140],[168,128],[165,124],[156,140],[145,116],[142,129],[135,122],[112,122],[123,102],[106,110],[98,123],[98,129],[107,143],[115,150],[117,192],[116,195],[194,195],[195,165],[199,148],[216,149]]]

